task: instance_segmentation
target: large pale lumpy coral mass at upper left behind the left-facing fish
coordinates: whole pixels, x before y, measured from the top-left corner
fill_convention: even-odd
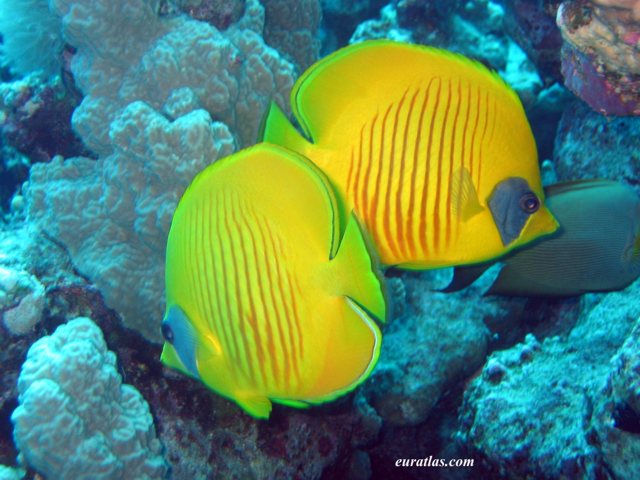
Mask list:
[[[99,158],[35,165],[29,216],[67,247],[126,326],[161,341],[178,199],[197,172],[256,140],[268,102],[287,103],[293,66],[264,43],[257,0],[224,32],[158,17],[157,2],[51,2],[86,94],[73,127]]]

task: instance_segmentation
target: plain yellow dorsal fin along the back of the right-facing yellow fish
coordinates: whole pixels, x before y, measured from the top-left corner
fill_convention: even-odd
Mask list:
[[[307,137],[322,143],[330,130],[342,130],[350,121],[343,113],[375,111],[389,92],[436,76],[473,79],[522,109],[516,93],[481,63],[446,50],[390,40],[350,45],[315,63],[294,85],[291,106]]]

